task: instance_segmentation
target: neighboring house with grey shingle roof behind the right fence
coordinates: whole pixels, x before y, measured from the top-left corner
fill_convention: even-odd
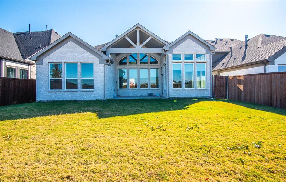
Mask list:
[[[212,74],[231,76],[286,71],[286,37],[260,34],[247,38],[246,35],[244,42],[234,41],[233,44],[228,44],[232,42],[230,39],[226,44],[225,39],[209,41],[217,48],[212,59]]]

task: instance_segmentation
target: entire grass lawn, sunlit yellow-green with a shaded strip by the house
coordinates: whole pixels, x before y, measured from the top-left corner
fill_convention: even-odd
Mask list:
[[[0,181],[285,179],[283,109],[211,99],[0,107]]]

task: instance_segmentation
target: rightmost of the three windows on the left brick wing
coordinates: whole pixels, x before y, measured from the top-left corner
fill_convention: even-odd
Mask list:
[[[93,89],[93,63],[81,63],[81,89]]]

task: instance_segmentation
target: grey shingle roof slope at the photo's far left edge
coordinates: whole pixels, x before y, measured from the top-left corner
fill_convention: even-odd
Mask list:
[[[0,57],[23,60],[13,33],[0,28]]]

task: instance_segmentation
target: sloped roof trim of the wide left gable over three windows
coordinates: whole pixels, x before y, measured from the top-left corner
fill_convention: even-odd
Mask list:
[[[102,59],[107,60],[108,56],[106,56],[104,53],[98,51],[97,49],[95,49],[94,47],[92,47],[91,45],[89,45],[88,43],[84,42],[82,39],[78,38],[76,35],[72,34],[71,32],[66,33],[64,36],[62,36],[61,38],[57,39],[56,41],[54,41],[53,43],[51,43],[50,45],[48,45],[47,47],[45,47],[44,49],[41,49],[40,51],[36,52],[34,55],[31,56],[31,60],[36,61],[37,57],[40,56],[41,54],[43,54],[44,52],[48,51],[49,49],[51,49],[52,47],[54,47],[55,45],[57,45],[59,42],[61,42],[62,40],[66,39],[67,37],[72,37],[74,39],[76,39],[78,42],[80,42],[81,44],[85,45],[86,47],[88,47],[89,49],[91,49],[92,51],[96,52],[97,54],[99,54],[100,56],[102,56]]]

